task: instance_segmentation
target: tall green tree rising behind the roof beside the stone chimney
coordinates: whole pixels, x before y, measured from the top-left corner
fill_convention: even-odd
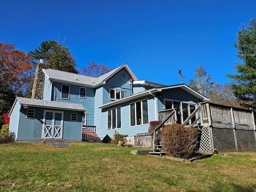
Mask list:
[[[42,42],[40,46],[28,52],[28,54],[31,55],[34,60],[39,60],[40,57],[43,57],[45,65],[48,68],[78,73],[76,61],[68,47],[54,40]],[[36,62],[34,63],[36,64]]]

